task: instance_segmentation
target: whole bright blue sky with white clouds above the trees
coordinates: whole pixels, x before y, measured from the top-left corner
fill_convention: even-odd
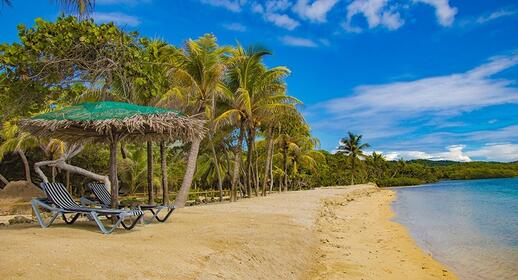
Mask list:
[[[13,0],[16,25],[53,20],[53,1]],[[518,3],[448,0],[97,0],[93,17],[181,45],[260,44],[292,70],[321,147],[347,131],[388,159],[518,160]]]

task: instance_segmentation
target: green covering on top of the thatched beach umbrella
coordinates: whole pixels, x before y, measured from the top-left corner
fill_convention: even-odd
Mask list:
[[[174,110],[164,108],[140,106],[124,102],[86,102],[66,107],[60,110],[41,114],[33,117],[33,120],[68,120],[68,121],[103,121],[124,120],[136,115],[157,115],[164,113],[181,114]]]

